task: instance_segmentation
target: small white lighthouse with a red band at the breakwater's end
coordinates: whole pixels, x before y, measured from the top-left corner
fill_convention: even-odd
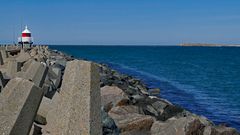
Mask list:
[[[22,45],[22,47],[31,47],[33,44],[33,39],[31,32],[28,27],[25,26],[25,30],[22,32],[21,37],[18,38],[18,43]]]

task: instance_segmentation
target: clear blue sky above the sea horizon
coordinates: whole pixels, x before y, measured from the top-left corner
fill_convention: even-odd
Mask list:
[[[0,0],[0,43],[240,43],[240,0]]]

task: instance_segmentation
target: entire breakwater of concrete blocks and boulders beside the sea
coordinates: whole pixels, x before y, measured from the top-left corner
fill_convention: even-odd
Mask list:
[[[21,134],[28,133],[33,122],[31,133],[39,134],[238,134],[233,128],[216,126],[157,98],[154,95],[159,89],[149,89],[140,80],[107,65],[74,60],[46,46],[20,49],[14,54],[6,48],[1,50],[0,107],[6,110],[1,116],[8,116],[4,118],[12,123],[1,124],[7,125],[1,128],[6,134],[23,132],[17,123],[27,124]],[[17,88],[27,90],[19,96]],[[4,99],[6,96],[11,98]],[[14,96],[21,102],[14,102]],[[36,96],[38,100],[32,102]],[[11,108],[11,103],[18,107]],[[25,105],[35,109],[26,110]],[[18,112],[13,114],[15,119],[8,115],[11,111]]]

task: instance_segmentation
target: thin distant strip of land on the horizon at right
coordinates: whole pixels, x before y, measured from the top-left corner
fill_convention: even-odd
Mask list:
[[[180,46],[211,46],[211,47],[240,47],[240,44],[207,44],[207,43],[183,43]]]

